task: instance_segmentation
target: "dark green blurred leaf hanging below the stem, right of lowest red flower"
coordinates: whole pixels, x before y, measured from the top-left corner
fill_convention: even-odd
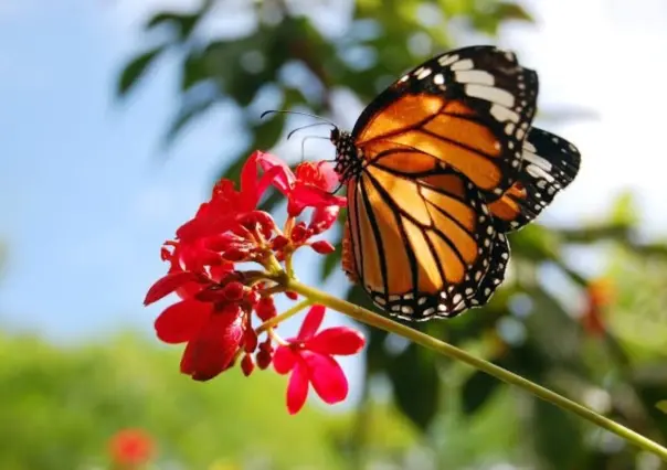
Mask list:
[[[410,344],[389,362],[389,378],[399,409],[422,431],[435,418],[441,397],[441,383],[431,351]]]

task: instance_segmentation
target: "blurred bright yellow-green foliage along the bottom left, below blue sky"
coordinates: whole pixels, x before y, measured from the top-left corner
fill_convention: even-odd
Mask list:
[[[125,428],[155,439],[158,468],[346,468],[338,449],[352,417],[307,407],[293,418],[286,380],[274,373],[246,378],[237,370],[197,383],[178,373],[177,351],[134,335],[59,346],[0,333],[0,362],[3,470],[108,468],[108,441]],[[383,450],[414,439],[388,413],[371,426]]]

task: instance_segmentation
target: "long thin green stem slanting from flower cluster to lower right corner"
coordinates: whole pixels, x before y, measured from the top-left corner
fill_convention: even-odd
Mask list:
[[[529,380],[526,380],[520,375],[517,375],[502,367],[491,364],[490,362],[484,361],[479,357],[468,354],[467,352],[459,350],[458,348],[453,346],[452,344],[436,340],[435,338],[422,333],[421,331],[416,331],[410,327],[398,323],[387,317],[373,313],[370,310],[350,303],[346,300],[338,299],[334,296],[328,295],[327,292],[306,286],[299,281],[287,279],[285,281],[285,288],[288,290],[294,290],[295,292],[298,292],[301,296],[305,296],[306,298],[310,299],[310,301],[314,303],[325,305],[360,322],[399,334],[403,338],[411,340],[416,344],[420,344],[424,348],[428,348],[440,354],[447,355],[452,359],[472,365],[473,367],[486,372],[487,374],[493,375],[494,377],[500,381],[523,388],[525,391],[542,398],[543,400],[559,406],[568,412],[574,413],[581,416],[582,418],[611,432],[614,432],[623,439],[626,439],[628,442],[632,442],[646,451],[655,453],[664,461],[667,461],[667,449],[660,446],[659,444],[654,442],[653,440],[642,436],[640,434],[637,434],[634,430],[628,429],[612,419],[605,418],[604,416],[599,415],[592,409],[589,409],[576,402],[565,398],[564,396],[559,395],[555,392],[550,391],[549,388],[544,388],[541,385],[530,382]]]

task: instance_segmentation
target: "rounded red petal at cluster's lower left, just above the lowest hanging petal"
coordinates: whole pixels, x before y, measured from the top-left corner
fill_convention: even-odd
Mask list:
[[[165,309],[156,319],[158,338],[170,344],[190,341],[211,316],[213,306],[194,299],[182,300]]]

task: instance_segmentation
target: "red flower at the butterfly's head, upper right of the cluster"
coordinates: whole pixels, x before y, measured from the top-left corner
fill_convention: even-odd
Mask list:
[[[263,153],[257,162],[265,171],[275,171],[273,184],[287,196],[287,213],[292,217],[306,207],[346,205],[345,197],[331,194],[339,180],[334,167],[327,162],[300,163],[296,174],[284,161],[268,153]]]

